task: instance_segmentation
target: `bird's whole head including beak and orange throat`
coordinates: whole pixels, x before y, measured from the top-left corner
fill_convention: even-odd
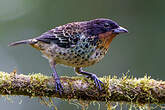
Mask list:
[[[116,35],[128,33],[128,30],[110,19],[99,18],[86,21],[86,32],[89,37],[93,36],[101,40],[100,46],[107,49]]]

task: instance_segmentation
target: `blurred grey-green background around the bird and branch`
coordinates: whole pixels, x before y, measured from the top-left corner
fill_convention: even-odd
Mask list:
[[[0,0],[0,70],[18,73],[42,72],[51,75],[48,61],[27,45],[8,47],[13,41],[41,33],[73,21],[110,18],[129,30],[116,37],[104,59],[85,70],[98,76],[145,74],[165,79],[165,0]],[[75,76],[72,68],[57,66],[60,75]],[[0,110],[45,110],[37,98],[0,98]],[[20,102],[22,102],[20,104]],[[57,99],[59,110],[79,110]],[[98,106],[90,106],[95,110]],[[101,104],[101,110],[105,105]]]

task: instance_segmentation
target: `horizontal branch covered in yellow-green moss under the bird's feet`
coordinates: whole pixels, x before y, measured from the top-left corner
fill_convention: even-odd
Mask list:
[[[101,92],[93,81],[83,77],[61,77],[62,95],[55,92],[54,79],[42,74],[18,75],[0,72],[1,95],[24,95],[30,97],[58,97],[86,101],[113,101],[135,104],[165,104],[165,82],[123,76],[100,78],[104,82]]]

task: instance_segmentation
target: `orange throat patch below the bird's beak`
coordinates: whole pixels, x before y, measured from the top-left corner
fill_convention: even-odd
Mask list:
[[[112,39],[114,37],[116,37],[117,34],[113,34],[112,32],[106,32],[103,34],[99,34],[99,39],[102,41],[101,46],[103,46],[104,48],[108,49],[110,43],[112,42]]]

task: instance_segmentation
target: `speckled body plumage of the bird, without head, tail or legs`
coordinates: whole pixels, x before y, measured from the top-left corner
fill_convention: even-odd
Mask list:
[[[33,46],[57,64],[72,67],[93,65],[104,57],[108,50],[104,44],[109,41],[99,39],[99,35],[88,35],[87,26],[89,24],[84,22],[59,26],[35,38],[38,42]],[[108,37],[111,39],[112,36]]]

